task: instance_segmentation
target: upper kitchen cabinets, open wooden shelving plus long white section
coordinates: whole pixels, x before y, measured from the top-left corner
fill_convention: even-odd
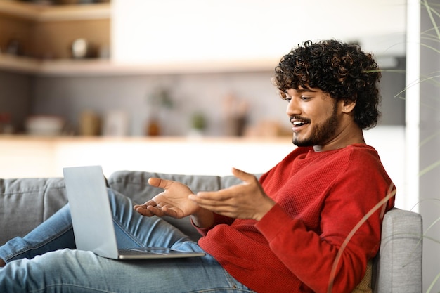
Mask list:
[[[3,54],[0,70],[53,76],[262,72],[273,70],[280,56],[302,41],[329,38],[358,41],[377,56],[404,55],[405,0],[309,2],[112,0],[41,7],[0,0],[3,51],[2,38],[10,37],[4,32],[14,28],[44,58]],[[365,25],[365,15],[375,15],[375,21]],[[108,44],[110,59],[66,58],[77,30],[98,45]]]

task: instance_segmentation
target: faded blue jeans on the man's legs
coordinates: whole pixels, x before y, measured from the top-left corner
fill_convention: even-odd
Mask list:
[[[140,216],[109,190],[119,247],[162,246],[202,252],[180,230]],[[25,215],[23,215],[25,216]],[[0,247],[0,292],[252,292],[208,254],[189,259],[117,261],[75,249],[68,205],[25,237]]]

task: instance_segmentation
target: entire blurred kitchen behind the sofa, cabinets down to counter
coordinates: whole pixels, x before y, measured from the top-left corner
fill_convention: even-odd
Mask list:
[[[294,148],[273,68],[329,38],[384,70],[382,120],[365,135],[401,186],[389,141],[404,143],[404,0],[0,0],[0,177],[264,172]]]

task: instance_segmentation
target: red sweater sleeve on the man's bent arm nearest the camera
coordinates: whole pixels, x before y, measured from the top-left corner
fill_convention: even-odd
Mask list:
[[[392,188],[387,175],[370,169],[374,167],[359,164],[339,174],[323,201],[320,233],[308,230],[279,204],[256,224],[273,253],[313,292],[328,292],[329,287],[331,292],[351,292],[379,249],[382,209],[364,216]],[[393,203],[386,202],[386,209]]]

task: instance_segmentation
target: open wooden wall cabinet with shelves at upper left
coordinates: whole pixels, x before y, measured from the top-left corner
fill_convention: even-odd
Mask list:
[[[97,50],[108,50],[110,11],[110,3],[44,6],[0,0],[0,70],[39,74],[103,63],[73,60],[70,48],[73,40],[84,38]]]

